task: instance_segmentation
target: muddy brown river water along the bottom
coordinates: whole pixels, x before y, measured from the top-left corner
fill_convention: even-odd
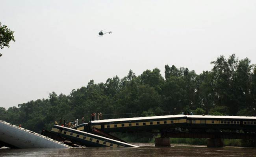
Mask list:
[[[204,146],[154,147],[133,143],[139,148],[87,147],[71,149],[0,149],[1,157],[256,157],[255,148],[207,148]]]

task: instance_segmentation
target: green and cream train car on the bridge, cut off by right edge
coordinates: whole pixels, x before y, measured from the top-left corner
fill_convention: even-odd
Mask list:
[[[188,128],[256,130],[256,117],[187,115]]]

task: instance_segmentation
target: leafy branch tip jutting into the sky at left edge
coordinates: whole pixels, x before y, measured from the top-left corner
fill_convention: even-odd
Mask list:
[[[9,47],[9,42],[14,41],[13,36],[14,31],[11,31],[9,28],[7,28],[6,25],[1,25],[0,22],[0,49],[3,49],[4,47]],[[2,54],[0,53],[0,57]]]

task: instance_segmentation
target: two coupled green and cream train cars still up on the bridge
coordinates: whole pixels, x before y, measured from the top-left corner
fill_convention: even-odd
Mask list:
[[[214,115],[165,115],[123,119],[94,120],[89,129],[97,128],[104,132],[170,130],[245,130],[256,131],[256,117],[214,116]]]

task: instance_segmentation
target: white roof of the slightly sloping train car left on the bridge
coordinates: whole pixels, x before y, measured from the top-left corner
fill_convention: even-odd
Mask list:
[[[130,121],[130,120],[150,120],[150,119],[165,119],[165,118],[186,118],[186,115],[163,115],[163,116],[152,116],[152,117],[134,117],[134,118],[120,118],[120,119],[104,119],[104,120],[93,120],[91,123],[101,122],[119,122],[119,121]]]

